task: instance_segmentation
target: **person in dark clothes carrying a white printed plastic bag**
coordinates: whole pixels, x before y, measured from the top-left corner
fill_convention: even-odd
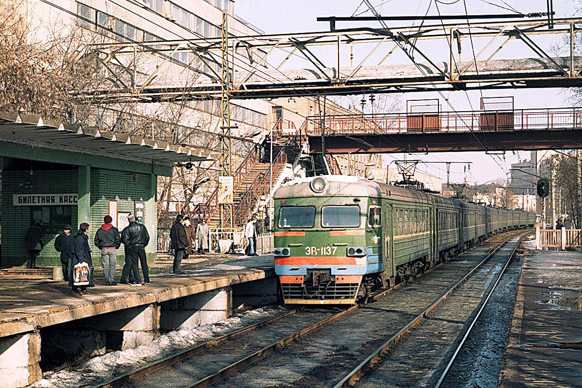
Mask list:
[[[90,268],[93,266],[93,261],[91,260],[88,233],[89,224],[83,222],[73,236],[69,286],[71,286],[71,292],[74,296],[90,294],[87,291],[87,286],[91,283]]]

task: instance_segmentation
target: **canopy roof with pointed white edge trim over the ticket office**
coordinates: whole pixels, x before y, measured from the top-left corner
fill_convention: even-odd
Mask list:
[[[77,155],[105,156],[165,167],[180,162],[215,160],[210,151],[199,148],[148,140],[96,127],[63,124],[37,115],[16,112],[0,112],[0,143],[51,150],[57,154],[58,151],[74,152]],[[2,154],[0,152],[0,156]],[[30,158],[34,159],[34,156],[30,155]]]

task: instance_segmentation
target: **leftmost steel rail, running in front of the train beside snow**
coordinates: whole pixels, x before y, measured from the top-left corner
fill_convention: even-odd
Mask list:
[[[279,321],[279,319],[286,318],[290,315],[296,314],[296,312],[297,312],[297,309],[293,309],[291,311],[284,312],[283,314],[279,314],[279,315],[273,316],[271,318],[264,319],[260,322],[254,323],[254,325],[247,326],[246,328],[242,328],[242,329],[236,330],[232,333],[225,334],[221,337],[218,337],[218,338],[211,340],[211,341],[204,342],[204,343],[199,344],[197,346],[187,348],[186,350],[183,350],[180,353],[171,355],[171,356],[166,357],[164,359],[161,359],[159,361],[152,362],[151,364],[144,365],[141,368],[134,369],[133,371],[123,373],[122,375],[116,376],[115,378],[113,378],[111,380],[107,380],[106,382],[102,382],[98,385],[92,386],[91,388],[110,388],[114,384],[125,383],[125,382],[129,382],[132,379],[140,378],[141,376],[147,375],[148,373],[155,372],[158,369],[164,368],[165,366],[175,364],[176,362],[182,361],[183,359],[186,359],[186,358],[189,358],[193,355],[196,355],[196,354],[200,353],[201,351],[206,350],[207,348],[217,346],[218,344],[220,344],[226,340],[233,339],[235,337],[240,336],[241,334],[251,332],[255,329],[261,328],[262,326],[268,325],[269,323]]]

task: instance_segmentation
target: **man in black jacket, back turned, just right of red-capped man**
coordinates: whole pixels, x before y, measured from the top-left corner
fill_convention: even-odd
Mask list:
[[[129,247],[129,254],[132,258],[132,271],[135,283],[129,283],[132,286],[139,286],[141,284],[140,272],[139,272],[139,262],[141,262],[141,271],[144,274],[144,283],[153,284],[150,282],[150,275],[148,273],[147,258],[145,257],[145,245],[150,242],[150,235],[147,233],[145,225],[136,222],[136,216],[130,214],[127,216],[129,225],[123,228],[121,232],[121,241],[125,247]],[[139,262],[138,262],[139,261]],[[129,277],[129,270],[123,267],[123,273],[121,275],[122,279],[127,279]],[[124,283],[124,282],[122,282]]]

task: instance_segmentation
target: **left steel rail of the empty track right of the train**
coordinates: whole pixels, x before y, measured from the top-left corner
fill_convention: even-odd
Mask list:
[[[485,262],[487,262],[491,257],[493,257],[493,255],[495,255],[496,252],[498,252],[514,236],[515,236],[515,234],[512,234],[512,236],[508,237],[508,239],[503,241],[494,250],[489,252],[487,257],[482,259],[482,261],[479,262],[479,264],[474,266],[474,268],[471,269],[469,271],[469,273],[464,275],[459,281],[457,281],[455,283],[455,285],[450,287],[449,290],[447,290],[440,298],[438,298],[435,302],[433,302],[429,307],[425,308],[423,312],[418,314],[410,322],[408,322],[406,325],[404,325],[404,327],[402,329],[400,329],[396,334],[394,334],[388,341],[386,341],[381,346],[379,346],[374,351],[374,353],[369,355],[364,361],[362,361],[358,366],[356,366],[356,368],[354,368],[350,373],[348,373],[342,380],[340,380],[338,383],[336,383],[334,388],[345,388],[345,387],[351,387],[351,386],[355,385],[357,380],[359,380],[361,378],[361,376],[363,376],[375,364],[377,364],[378,361],[380,361],[380,359],[382,359],[382,357],[384,357],[384,354],[390,348],[392,348],[404,335],[406,335],[407,333],[410,333],[414,328],[416,328],[416,326],[420,325],[420,323],[423,322],[428,317],[428,315],[430,315],[431,312],[434,311],[446,298],[448,298],[450,296],[450,294],[453,293],[453,291],[455,291],[457,288],[459,288],[459,286],[461,286],[471,276],[473,276],[474,273],[477,272],[477,270],[480,269],[483,264],[485,264]],[[517,244],[519,244],[519,241]]]

